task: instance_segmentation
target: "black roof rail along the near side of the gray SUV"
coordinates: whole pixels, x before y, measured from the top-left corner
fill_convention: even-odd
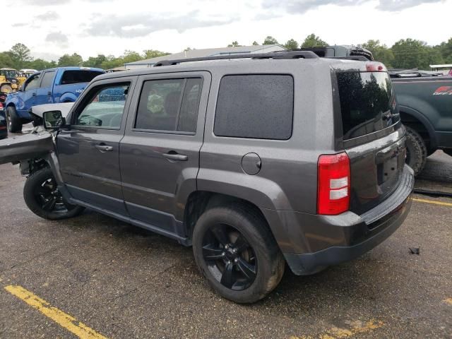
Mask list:
[[[246,54],[230,54],[230,55],[214,55],[211,57],[186,58],[174,60],[162,60],[157,62],[154,67],[172,66],[181,64],[182,62],[191,61],[210,61],[210,60],[227,60],[227,59],[317,59],[317,54],[311,51],[293,51],[293,52],[270,52],[270,53],[246,53]]]

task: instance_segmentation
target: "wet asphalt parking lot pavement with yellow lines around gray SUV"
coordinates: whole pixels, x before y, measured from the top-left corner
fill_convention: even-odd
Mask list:
[[[444,153],[427,168],[436,160],[447,178]],[[2,339],[452,338],[451,198],[413,196],[408,219],[369,253],[309,277],[286,270],[244,306],[209,289],[190,248],[88,210],[43,220],[25,206],[18,166],[0,173]]]

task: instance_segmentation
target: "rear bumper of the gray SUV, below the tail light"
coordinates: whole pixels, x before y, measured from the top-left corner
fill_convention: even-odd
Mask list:
[[[298,253],[283,251],[292,271],[297,275],[316,273],[325,266],[357,258],[383,242],[407,217],[413,186],[412,169],[405,165],[398,189],[367,213],[356,215],[349,211],[334,216],[315,215],[309,225],[299,220],[299,225],[307,228],[304,250]]]

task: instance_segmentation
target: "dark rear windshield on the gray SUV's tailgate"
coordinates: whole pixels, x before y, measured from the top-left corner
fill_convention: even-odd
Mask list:
[[[386,72],[337,73],[344,140],[395,124],[399,117]]]

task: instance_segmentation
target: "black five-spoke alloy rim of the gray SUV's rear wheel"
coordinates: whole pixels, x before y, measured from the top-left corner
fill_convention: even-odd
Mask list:
[[[221,285],[235,291],[246,290],[257,274],[254,249],[236,228],[217,224],[203,238],[206,266]]]

